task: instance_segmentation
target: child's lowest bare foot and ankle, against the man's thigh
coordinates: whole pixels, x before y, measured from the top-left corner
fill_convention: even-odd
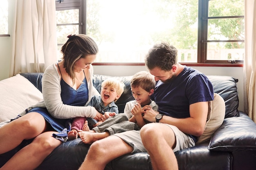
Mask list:
[[[92,144],[93,142],[103,139],[105,137],[110,136],[109,132],[102,132],[102,133],[88,133],[87,131],[79,131],[79,137],[82,139],[83,143],[85,144]]]

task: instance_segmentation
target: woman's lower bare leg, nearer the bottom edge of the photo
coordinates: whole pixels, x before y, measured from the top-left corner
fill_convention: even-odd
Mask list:
[[[52,137],[54,131],[38,135],[31,144],[22,148],[0,170],[33,170],[62,142]]]

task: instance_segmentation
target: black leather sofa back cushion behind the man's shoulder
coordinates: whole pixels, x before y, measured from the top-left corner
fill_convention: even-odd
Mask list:
[[[238,117],[237,79],[231,76],[207,76],[213,85],[214,93],[218,93],[225,101],[225,118]]]

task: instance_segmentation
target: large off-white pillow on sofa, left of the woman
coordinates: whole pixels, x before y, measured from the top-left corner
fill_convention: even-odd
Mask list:
[[[0,81],[0,122],[15,118],[43,100],[43,94],[27,78],[17,74]]]

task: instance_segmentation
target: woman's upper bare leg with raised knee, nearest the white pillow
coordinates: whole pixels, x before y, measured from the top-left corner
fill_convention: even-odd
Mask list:
[[[16,148],[24,139],[32,139],[45,130],[45,119],[39,113],[27,113],[9,122],[0,128],[0,154]]]

